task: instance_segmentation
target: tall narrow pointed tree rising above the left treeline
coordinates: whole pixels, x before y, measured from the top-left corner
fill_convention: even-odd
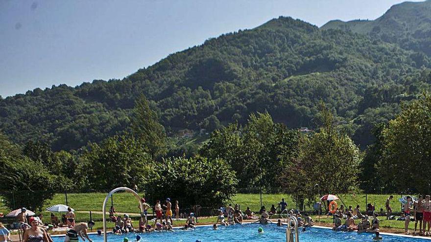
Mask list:
[[[165,129],[159,123],[157,114],[150,109],[144,95],[136,100],[133,114],[133,134],[143,144],[145,151],[153,160],[166,154]]]

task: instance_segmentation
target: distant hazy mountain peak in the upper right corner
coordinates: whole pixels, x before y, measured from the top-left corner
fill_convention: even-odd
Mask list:
[[[392,6],[374,21],[330,21],[322,29],[350,30],[431,56],[431,0]]]

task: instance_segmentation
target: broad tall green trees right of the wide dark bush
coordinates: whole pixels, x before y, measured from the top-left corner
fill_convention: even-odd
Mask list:
[[[244,127],[231,124],[215,131],[200,154],[226,160],[237,174],[240,191],[276,192],[282,161],[295,154],[298,138],[268,113],[251,114]]]

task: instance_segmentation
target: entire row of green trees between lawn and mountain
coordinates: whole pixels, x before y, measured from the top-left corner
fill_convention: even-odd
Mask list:
[[[1,134],[0,194],[11,208],[39,209],[56,192],[134,185],[150,202],[170,197],[185,206],[218,206],[238,191],[286,192],[302,206],[316,198],[315,184],[321,193],[335,194],[431,192],[430,95],[376,126],[377,141],[366,152],[339,129],[323,103],[316,118],[320,128],[304,134],[275,123],[267,112],[251,114],[243,126],[213,132],[195,154],[171,156],[163,126],[142,96],[130,132],[81,151],[53,152],[41,142],[18,147]]]

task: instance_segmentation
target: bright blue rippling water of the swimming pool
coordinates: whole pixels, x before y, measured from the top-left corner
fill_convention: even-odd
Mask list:
[[[264,233],[259,234],[258,228],[263,227]],[[137,234],[114,235],[108,234],[109,242],[122,242],[124,237],[129,242],[135,241]],[[211,226],[198,227],[194,230],[175,230],[175,232],[152,232],[140,234],[141,242],[286,242],[286,227],[274,224],[258,225],[243,224],[229,227],[219,226],[213,230]],[[334,232],[330,229],[309,228],[300,232],[300,242],[373,242],[373,234],[356,232]],[[399,236],[382,235],[382,242],[431,242],[425,239],[412,239]],[[93,242],[103,242],[103,236],[90,235]],[[63,242],[64,237],[53,237],[54,242]],[[80,242],[82,240],[80,239]]]

